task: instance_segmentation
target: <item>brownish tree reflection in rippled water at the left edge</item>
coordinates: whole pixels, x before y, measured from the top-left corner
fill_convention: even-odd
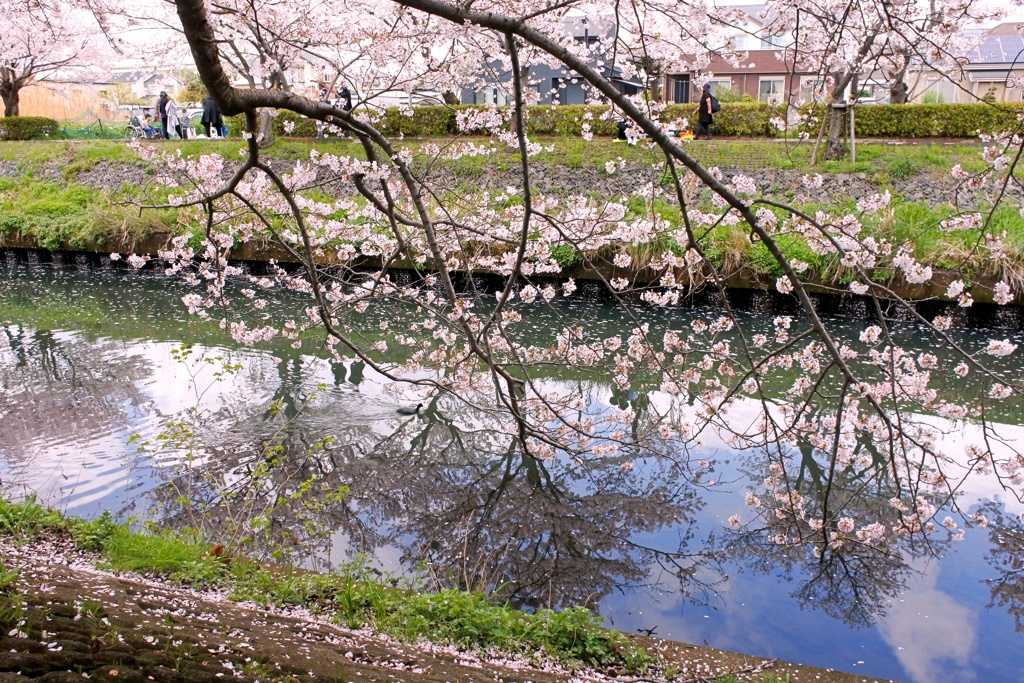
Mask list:
[[[0,327],[0,452],[16,463],[40,440],[117,431],[144,404],[135,382],[148,374],[145,359],[117,342]]]

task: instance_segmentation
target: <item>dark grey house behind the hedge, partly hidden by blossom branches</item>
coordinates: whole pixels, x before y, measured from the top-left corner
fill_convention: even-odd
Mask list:
[[[614,22],[586,15],[567,16],[562,22],[567,35],[592,50],[590,65],[598,68],[610,56],[612,41],[617,30]],[[605,50],[605,46],[607,49]],[[608,52],[608,54],[605,54]],[[643,84],[625,77],[621,67],[600,67],[620,92],[634,95],[643,90]],[[541,104],[584,104],[597,95],[588,92],[583,78],[561,67],[534,65],[529,68],[527,83],[537,92]],[[512,98],[512,73],[502,69],[502,60],[494,59],[480,77],[480,82],[462,90],[463,104],[507,104]]]

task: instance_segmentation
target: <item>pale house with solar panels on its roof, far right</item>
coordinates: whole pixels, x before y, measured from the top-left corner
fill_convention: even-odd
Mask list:
[[[939,73],[931,68],[911,69],[907,77],[912,102],[997,102],[1024,100],[1024,38],[1017,24],[1000,24],[974,38],[975,46],[963,53],[959,70]]]

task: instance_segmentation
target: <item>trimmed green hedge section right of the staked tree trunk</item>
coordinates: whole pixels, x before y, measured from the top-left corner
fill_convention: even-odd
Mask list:
[[[802,110],[807,113],[808,110]],[[818,122],[823,108],[813,110]],[[1022,104],[861,104],[854,114],[858,137],[977,137],[978,131],[1016,128]],[[817,126],[812,126],[812,134]]]

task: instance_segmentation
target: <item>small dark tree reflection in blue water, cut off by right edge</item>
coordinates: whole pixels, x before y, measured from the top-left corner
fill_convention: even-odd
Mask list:
[[[992,596],[989,606],[1005,607],[1016,630],[1024,631],[1024,518],[999,503],[987,503],[975,517],[988,525],[991,547],[985,560],[998,572],[985,581]]]

